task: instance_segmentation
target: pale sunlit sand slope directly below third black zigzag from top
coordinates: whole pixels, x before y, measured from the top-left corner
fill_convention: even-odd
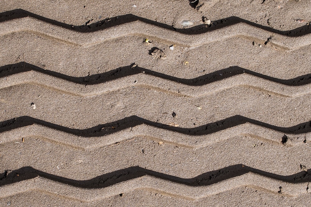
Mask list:
[[[154,134],[156,133],[159,134],[159,137],[154,137]],[[51,136],[52,134],[53,136]],[[233,134],[235,134],[235,136],[233,136]],[[85,137],[67,134],[39,124],[33,124],[31,126],[2,132],[0,144],[13,141],[19,142],[18,140],[21,140],[22,137],[25,139],[27,139],[27,137],[33,137],[47,140],[55,144],[71,146],[75,149],[94,150],[99,147],[112,146],[116,143],[126,142],[135,137],[145,137],[149,140],[176,145],[183,148],[200,149],[216,142],[229,140],[239,136],[251,137],[252,139],[261,140],[271,144],[281,144],[281,137],[283,137],[284,134],[271,129],[267,130],[267,128],[255,124],[246,123],[221,130],[210,135],[198,135],[193,137],[189,135],[181,136],[181,134],[177,132],[143,124],[133,127],[131,131],[121,130],[113,134],[86,139]],[[289,140],[286,142],[286,146],[296,146],[302,144],[303,142],[309,143],[309,141],[307,142],[307,139],[305,138],[309,137],[309,133],[297,134],[295,137],[301,137],[299,140],[297,140],[297,138],[294,139],[294,137],[291,137],[290,134],[287,134],[287,136],[289,137]],[[290,140],[297,141],[295,142]]]

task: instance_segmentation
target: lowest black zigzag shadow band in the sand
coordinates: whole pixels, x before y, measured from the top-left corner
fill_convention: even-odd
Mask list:
[[[156,178],[168,180],[175,183],[181,183],[188,186],[208,186],[211,184],[215,184],[217,182],[221,182],[230,178],[234,178],[240,175],[244,175],[246,173],[252,172],[267,178],[273,178],[276,180],[290,182],[290,183],[301,183],[301,182],[310,182],[311,174],[309,170],[301,171],[299,173],[283,176],[274,173],[269,173],[263,170],[251,168],[248,166],[244,166],[242,164],[231,165],[229,167],[225,167],[219,170],[210,171],[207,173],[203,173],[194,178],[179,178],[176,176],[168,175],[165,173],[156,172],[153,170],[148,170],[139,166],[129,167],[126,169],[117,170],[111,173],[106,173],[95,178],[89,180],[73,180],[69,178],[60,177],[57,175],[53,175],[50,173],[45,173],[43,171],[34,169],[32,167],[23,167],[17,170],[13,170],[10,173],[0,174],[0,186],[4,186],[7,184],[12,184],[16,182],[20,182],[23,180],[28,180],[35,178],[37,176],[47,178],[53,181],[65,183],[74,187],[80,188],[104,188],[109,187],[111,185],[128,181],[134,178],[140,178],[145,175],[150,175]],[[18,176],[17,176],[18,175]]]

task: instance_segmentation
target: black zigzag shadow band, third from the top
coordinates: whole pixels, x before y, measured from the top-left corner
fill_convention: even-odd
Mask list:
[[[56,129],[59,131],[63,131],[65,133],[74,134],[82,137],[100,137],[107,134],[112,134],[118,131],[121,131],[126,128],[135,127],[137,125],[146,124],[149,126],[153,126],[156,128],[166,129],[173,132],[178,132],[187,135],[206,135],[215,133],[227,128],[231,128],[240,124],[251,123],[256,124],[258,126],[270,128],[272,130],[276,130],[282,133],[287,134],[300,134],[300,133],[308,133],[311,132],[311,121],[297,124],[292,127],[279,127],[274,126],[272,124],[267,124],[261,121],[257,121],[254,119],[250,119],[244,116],[235,115],[226,119],[222,119],[220,121],[212,122],[209,124],[205,124],[202,126],[194,127],[194,128],[181,128],[181,127],[172,127],[167,124],[161,124],[153,121],[149,121],[147,119],[140,118],[138,116],[130,116],[124,119],[120,119],[118,121],[100,124],[91,128],[86,129],[74,129],[64,127],[58,124],[49,123],[40,119],[32,118],[30,116],[21,116],[14,119],[9,119],[6,121],[0,122],[0,133],[9,131],[12,129],[29,126],[32,124],[39,124],[45,127],[49,127],[52,129]]]

